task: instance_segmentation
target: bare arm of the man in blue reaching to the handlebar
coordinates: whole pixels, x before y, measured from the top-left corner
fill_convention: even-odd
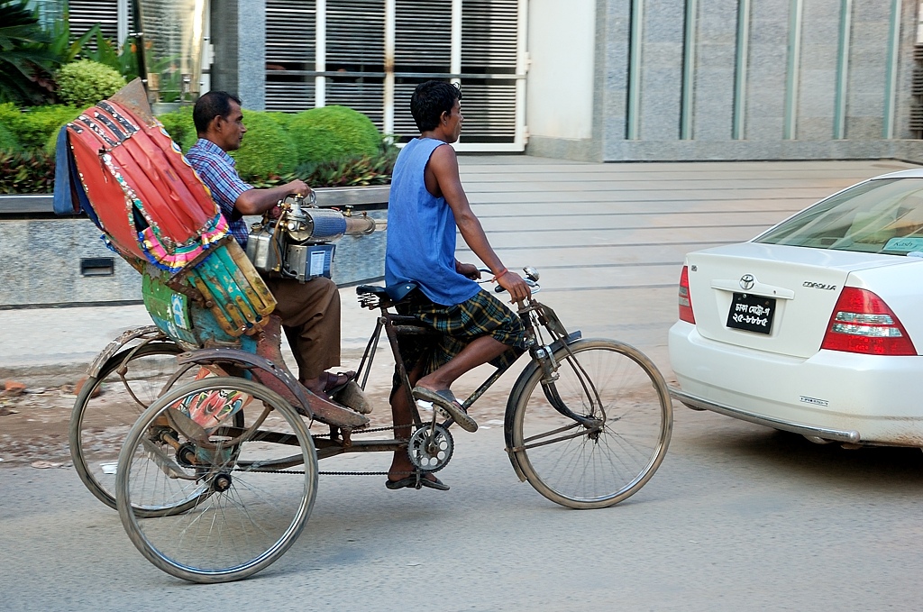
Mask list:
[[[497,282],[509,291],[512,301],[521,302],[527,298],[530,294],[529,286],[519,274],[509,272],[503,266],[494,248],[487,241],[481,222],[471,210],[468,197],[462,187],[462,179],[459,176],[459,164],[455,157],[455,150],[449,146],[438,147],[434,150],[429,163],[426,164],[426,174],[426,186],[429,187],[431,183],[435,183],[437,193],[441,193],[446,198],[446,203],[455,215],[455,224],[458,225],[462,238],[471,247],[474,255],[494,272]]]

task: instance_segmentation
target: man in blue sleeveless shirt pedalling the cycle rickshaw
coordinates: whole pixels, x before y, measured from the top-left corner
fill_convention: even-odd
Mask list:
[[[525,339],[519,316],[474,282],[481,273],[473,264],[455,258],[456,228],[513,302],[526,299],[529,287],[500,262],[462,188],[458,160],[450,146],[462,132],[461,100],[461,90],[432,80],[417,86],[411,97],[420,138],[407,143],[394,164],[385,282],[389,286],[415,282],[418,290],[398,310],[441,334],[438,342],[427,345],[402,338],[401,354],[414,398],[432,402],[462,428],[475,431],[477,423],[455,399],[451,384],[475,366],[487,362],[501,366],[515,360],[525,349]],[[396,391],[395,385],[391,391],[395,434],[409,438],[411,406]],[[392,489],[415,486],[414,475],[402,477],[412,472],[406,450],[395,451],[385,484]],[[433,474],[426,474],[421,482],[430,488],[449,488]]]

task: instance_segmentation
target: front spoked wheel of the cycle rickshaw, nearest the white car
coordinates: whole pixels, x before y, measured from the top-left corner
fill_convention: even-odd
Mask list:
[[[569,349],[572,357],[563,348],[555,354],[553,386],[543,388],[539,368],[510,398],[512,450],[546,498],[605,508],[637,492],[664,461],[673,408],[660,372],[637,349],[609,340],[581,340]]]

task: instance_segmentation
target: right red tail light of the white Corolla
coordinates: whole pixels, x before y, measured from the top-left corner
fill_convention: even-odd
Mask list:
[[[844,287],[821,349],[862,354],[917,354],[893,310],[867,289]]]

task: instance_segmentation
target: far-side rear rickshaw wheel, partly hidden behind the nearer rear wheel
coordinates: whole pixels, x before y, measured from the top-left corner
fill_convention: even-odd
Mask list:
[[[198,367],[179,370],[174,342],[150,342],[114,354],[88,378],[70,416],[70,454],[83,484],[115,508],[115,465],[128,429],[164,390],[192,380]]]

